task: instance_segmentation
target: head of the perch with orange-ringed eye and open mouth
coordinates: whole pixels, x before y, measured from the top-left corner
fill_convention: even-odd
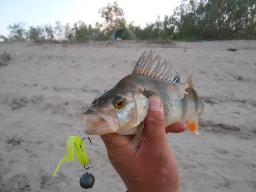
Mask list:
[[[147,116],[148,98],[131,91],[102,92],[82,115],[84,132],[88,135],[127,132]]]

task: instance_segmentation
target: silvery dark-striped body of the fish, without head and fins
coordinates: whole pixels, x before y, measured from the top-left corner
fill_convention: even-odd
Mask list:
[[[126,78],[127,82],[130,82],[128,86],[135,87],[132,90],[133,95],[143,94],[145,97],[157,95],[161,99],[166,126],[176,122],[186,123],[197,113],[203,112],[204,105],[201,98],[189,86],[185,89],[186,93],[182,93],[180,89],[175,90],[175,87],[185,86],[180,83],[136,74],[128,75]]]

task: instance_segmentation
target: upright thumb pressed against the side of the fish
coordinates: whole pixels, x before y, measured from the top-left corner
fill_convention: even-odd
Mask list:
[[[155,147],[167,142],[163,105],[156,95],[149,97],[149,110],[145,119],[144,137],[145,142]]]

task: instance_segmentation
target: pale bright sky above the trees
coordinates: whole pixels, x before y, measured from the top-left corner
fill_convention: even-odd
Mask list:
[[[72,2],[72,3],[71,3]],[[27,26],[52,24],[73,24],[83,20],[87,24],[102,21],[98,13],[101,7],[114,0],[0,0],[0,34],[7,36],[9,24],[23,22]],[[181,0],[117,0],[128,22],[134,21],[142,27],[146,22],[161,20],[164,15],[171,15]]]

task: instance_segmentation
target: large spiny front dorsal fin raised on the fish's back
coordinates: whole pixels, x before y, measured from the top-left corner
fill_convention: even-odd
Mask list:
[[[166,60],[155,52],[148,50],[142,53],[132,73],[181,83],[179,74]]]

